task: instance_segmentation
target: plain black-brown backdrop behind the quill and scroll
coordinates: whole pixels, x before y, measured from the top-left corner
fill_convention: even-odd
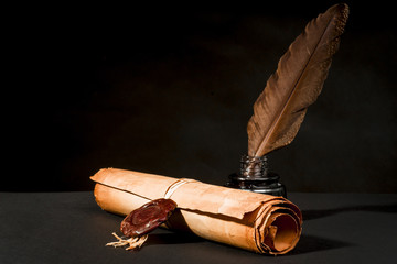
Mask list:
[[[278,59],[334,3],[6,10],[0,190],[90,190],[103,167],[223,185]],[[322,94],[269,155],[289,191],[397,191],[394,7],[347,3]]]

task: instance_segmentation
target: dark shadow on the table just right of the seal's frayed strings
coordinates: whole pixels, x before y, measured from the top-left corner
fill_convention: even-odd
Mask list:
[[[195,234],[191,234],[187,232],[151,233],[148,237],[146,246],[157,245],[157,244],[200,243],[203,241],[205,241],[205,240]]]

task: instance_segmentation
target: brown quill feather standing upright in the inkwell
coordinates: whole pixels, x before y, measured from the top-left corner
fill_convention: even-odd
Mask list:
[[[331,7],[308,23],[280,58],[248,121],[248,155],[264,156],[291,143],[321,92],[347,16],[346,4]]]

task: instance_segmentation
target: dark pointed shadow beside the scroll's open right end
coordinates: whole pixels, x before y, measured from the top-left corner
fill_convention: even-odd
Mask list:
[[[326,251],[326,250],[335,250],[346,246],[352,246],[353,244],[339,241],[339,240],[330,240],[324,238],[319,238],[314,235],[305,235],[302,234],[297,246],[288,253],[289,255],[299,255],[305,254],[316,251]]]

